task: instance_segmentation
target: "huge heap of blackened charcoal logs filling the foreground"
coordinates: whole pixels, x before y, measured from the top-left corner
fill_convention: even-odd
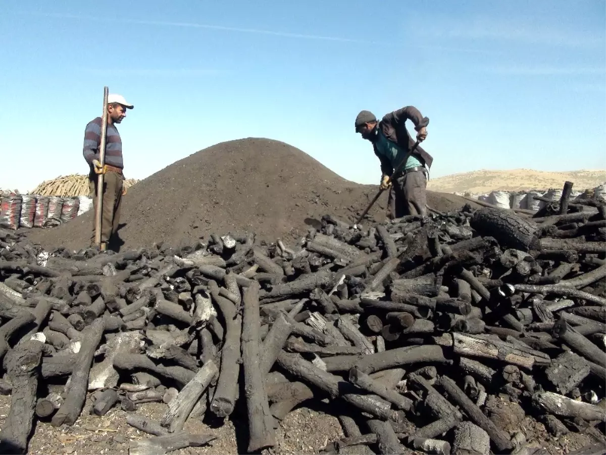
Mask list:
[[[73,425],[89,393],[92,413],[121,408],[152,435],[131,454],[204,445],[215,436],[187,419],[234,413],[249,452],[276,448],[290,411],[326,399],[345,438],[325,454],[530,455],[525,416],[602,440],[606,217],[593,205],[358,229],[325,216],[291,248],[229,234],[48,255],[0,231],[0,451],[25,453],[33,419]],[[158,422],[137,413],[151,401],[167,403]]]

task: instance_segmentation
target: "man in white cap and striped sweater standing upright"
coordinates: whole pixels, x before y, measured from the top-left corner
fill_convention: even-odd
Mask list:
[[[124,120],[127,109],[133,109],[121,95],[107,96],[107,133],[105,135],[105,166],[101,166],[99,145],[101,144],[101,117],[88,122],[84,130],[84,159],[88,163],[88,190],[93,198],[93,210],[96,214],[98,174],[104,174],[102,212],[101,212],[101,250],[118,231],[122,196],[126,194],[124,187],[124,163],[122,161],[122,140],[116,124]],[[95,246],[95,223],[91,246]]]

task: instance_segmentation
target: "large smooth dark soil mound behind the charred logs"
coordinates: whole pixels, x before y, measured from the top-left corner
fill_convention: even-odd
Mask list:
[[[379,171],[373,170],[375,174]],[[324,214],[353,222],[378,186],[345,180],[288,144],[247,138],[216,144],[150,175],[128,190],[119,236],[124,248],[165,241],[178,244],[211,233],[256,232],[275,241],[302,235]],[[429,194],[438,210],[458,209],[464,199]],[[385,218],[387,195],[370,211]],[[30,240],[45,248],[88,246],[93,211],[52,229],[32,229]]]

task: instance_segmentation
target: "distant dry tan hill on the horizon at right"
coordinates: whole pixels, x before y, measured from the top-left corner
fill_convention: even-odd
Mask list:
[[[482,169],[431,178],[427,189],[445,193],[489,193],[492,190],[522,191],[561,188],[567,180],[574,183],[575,190],[594,188],[606,181],[606,170],[545,172],[533,169]]]

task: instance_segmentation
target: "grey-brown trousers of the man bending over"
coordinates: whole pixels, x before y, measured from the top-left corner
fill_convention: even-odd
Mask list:
[[[387,207],[390,218],[427,214],[427,177],[422,170],[404,174],[391,183]]]

